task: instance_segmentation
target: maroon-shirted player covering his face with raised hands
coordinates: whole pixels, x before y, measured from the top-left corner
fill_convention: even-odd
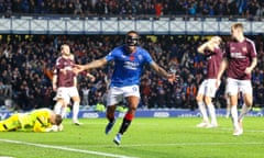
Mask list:
[[[201,112],[202,122],[197,125],[197,127],[217,127],[217,116],[215,105],[212,104],[212,98],[215,98],[218,87],[217,75],[219,71],[219,67],[222,60],[222,49],[220,48],[221,37],[213,36],[208,42],[200,45],[197,50],[200,54],[204,54],[207,57],[207,77],[201,82],[198,94],[196,97],[197,104]],[[211,122],[209,122],[209,117],[207,114],[207,108],[211,117]]]

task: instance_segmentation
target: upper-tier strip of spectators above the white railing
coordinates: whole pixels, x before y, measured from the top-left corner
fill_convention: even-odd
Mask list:
[[[64,15],[154,15],[263,18],[262,0],[0,0],[0,13]]]

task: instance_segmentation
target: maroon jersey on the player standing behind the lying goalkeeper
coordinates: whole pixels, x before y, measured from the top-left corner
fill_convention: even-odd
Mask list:
[[[55,65],[54,75],[57,75],[57,87],[73,87],[75,74],[73,71],[74,60],[69,58],[58,57]],[[62,71],[66,70],[66,74]]]

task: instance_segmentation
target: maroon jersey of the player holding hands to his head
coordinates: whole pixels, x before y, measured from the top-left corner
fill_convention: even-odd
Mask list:
[[[216,79],[220,64],[223,57],[223,53],[220,48],[215,48],[213,53],[207,55],[207,78],[208,79]]]

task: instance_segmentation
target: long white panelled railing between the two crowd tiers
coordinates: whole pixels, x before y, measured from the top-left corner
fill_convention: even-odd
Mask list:
[[[230,34],[233,22],[244,24],[245,34],[263,34],[264,19],[240,16],[66,16],[12,15],[0,19],[1,34]]]

